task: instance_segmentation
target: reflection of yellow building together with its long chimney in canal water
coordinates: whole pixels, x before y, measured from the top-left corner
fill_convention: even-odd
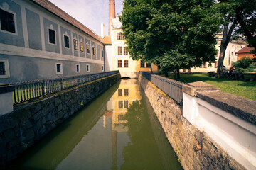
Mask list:
[[[107,111],[103,115],[103,126],[107,127],[107,118],[111,120],[112,169],[117,169],[117,132],[127,132],[125,115],[133,101],[141,100],[137,79],[122,79],[117,91],[107,102]]]

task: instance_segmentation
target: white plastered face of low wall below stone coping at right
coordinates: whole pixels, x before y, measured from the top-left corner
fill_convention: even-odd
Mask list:
[[[256,169],[256,125],[183,93],[183,116],[246,169]]]

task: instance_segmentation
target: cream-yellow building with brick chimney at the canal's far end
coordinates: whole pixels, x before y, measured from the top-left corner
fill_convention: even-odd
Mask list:
[[[146,64],[142,61],[135,61],[127,52],[127,45],[124,43],[125,37],[122,35],[122,23],[114,13],[114,0],[110,1],[110,30],[109,35],[102,36],[102,41],[106,43],[105,69],[119,70],[121,77],[137,78],[139,71],[157,71],[154,64]]]

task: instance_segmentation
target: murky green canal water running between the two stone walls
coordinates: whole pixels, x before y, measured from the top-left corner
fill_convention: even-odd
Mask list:
[[[122,79],[12,169],[182,169],[137,79]]]

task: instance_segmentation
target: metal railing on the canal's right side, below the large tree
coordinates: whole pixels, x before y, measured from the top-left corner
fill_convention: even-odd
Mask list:
[[[153,83],[159,89],[164,91],[164,93],[168,94],[178,104],[183,104],[182,86],[184,83],[155,74],[150,74],[149,72],[142,72],[142,76],[151,81],[151,83]]]

